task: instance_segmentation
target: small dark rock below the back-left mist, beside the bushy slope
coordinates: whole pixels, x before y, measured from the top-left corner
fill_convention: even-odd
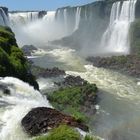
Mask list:
[[[37,48],[33,45],[24,45],[21,49],[26,56],[31,56],[31,53],[37,50]]]

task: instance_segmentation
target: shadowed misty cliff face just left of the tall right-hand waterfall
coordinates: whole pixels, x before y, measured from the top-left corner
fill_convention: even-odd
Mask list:
[[[64,20],[63,15],[67,16],[69,27],[67,37],[57,40],[54,43],[61,45],[69,45],[72,47],[97,47],[100,43],[103,32],[106,30],[112,7],[112,2],[98,1],[80,7],[64,7],[57,10],[56,20]],[[80,20],[78,28],[76,28],[77,10],[80,8]],[[64,22],[64,21],[63,21]],[[71,34],[72,31],[73,33]]]

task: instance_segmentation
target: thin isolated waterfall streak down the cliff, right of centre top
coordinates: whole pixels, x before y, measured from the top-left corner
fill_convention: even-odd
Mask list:
[[[77,7],[76,15],[75,15],[74,31],[76,31],[79,28],[80,18],[81,18],[81,7]]]

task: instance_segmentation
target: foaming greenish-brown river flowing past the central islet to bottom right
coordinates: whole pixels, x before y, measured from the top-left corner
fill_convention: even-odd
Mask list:
[[[98,112],[96,116],[91,116],[93,119],[90,125],[93,127],[94,134],[105,140],[140,139],[140,86],[136,79],[103,68],[85,65],[82,58],[78,59],[78,54],[71,49],[55,49],[49,51],[49,54],[57,61],[64,63],[67,74],[81,76],[90,83],[96,83],[99,91],[102,91],[98,95],[100,98],[96,106]],[[42,63],[42,59],[40,59],[42,65],[45,61]],[[77,69],[83,64],[85,71],[81,66],[80,68],[84,72],[70,71],[67,64],[74,67],[73,69]],[[43,81],[40,79],[39,82]],[[45,84],[42,89],[45,89]]]

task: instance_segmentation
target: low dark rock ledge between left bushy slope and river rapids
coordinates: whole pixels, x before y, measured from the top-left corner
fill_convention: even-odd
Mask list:
[[[44,78],[58,77],[60,75],[65,75],[65,71],[60,70],[57,67],[54,67],[52,69],[49,69],[49,68],[44,69],[44,68],[40,68],[38,66],[32,65],[31,66],[31,72],[36,77],[44,77]]]

